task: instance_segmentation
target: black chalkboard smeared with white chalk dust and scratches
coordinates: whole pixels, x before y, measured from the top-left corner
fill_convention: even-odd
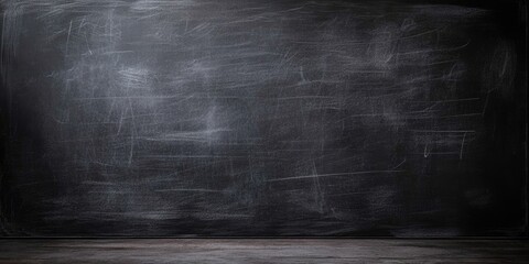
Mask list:
[[[0,4],[2,235],[527,231],[525,1]]]

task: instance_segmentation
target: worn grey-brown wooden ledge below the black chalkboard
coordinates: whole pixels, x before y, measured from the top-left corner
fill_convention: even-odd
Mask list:
[[[0,263],[529,263],[528,241],[3,239]]]

